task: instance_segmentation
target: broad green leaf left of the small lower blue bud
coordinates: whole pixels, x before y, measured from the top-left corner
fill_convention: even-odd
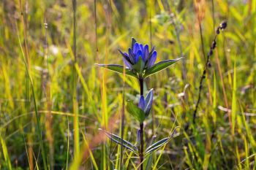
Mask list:
[[[140,123],[145,120],[145,113],[137,105],[133,104],[132,101],[127,101],[127,111],[135,117]]]

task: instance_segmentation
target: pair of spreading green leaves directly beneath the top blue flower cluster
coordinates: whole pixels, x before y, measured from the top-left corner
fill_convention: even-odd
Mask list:
[[[166,60],[166,61],[160,61],[159,63],[155,63],[150,69],[146,69],[145,72],[143,73],[143,78],[146,78],[152,74],[155,74],[157,72],[162,71],[163,69],[166,69],[168,66],[173,65],[173,63],[176,63],[177,61],[181,60],[181,58],[177,58],[177,59],[173,59],[173,60]],[[141,63],[141,62],[140,62]],[[141,70],[141,64],[138,63],[138,70],[142,73]],[[118,65],[118,64],[99,64],[96,63],[97,66],[101,66],[104,67],[105,69],[109,69],[113,72],[117,72],[120,74],[123,74],[123,69],[124,66]],[[138,78],[138,74],[136,74],[135,72],[133,72],[133,70],[125,67],[125,72],[127,75],[131,76],[131,77],[135,77]]]

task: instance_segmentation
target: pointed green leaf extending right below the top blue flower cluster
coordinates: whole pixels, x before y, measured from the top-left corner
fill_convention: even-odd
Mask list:
[[[146,72],[143,75],[143,77],[146,78],[146,77],[150,76],[151,74],[155,74],[163,69],[166,69],[168,66],[173,65],[173,63],[176,63],[177,61],[179,61],[181,59],[182,58],[160,61],[159,63],[154,64],[150,69],[146,69]]]

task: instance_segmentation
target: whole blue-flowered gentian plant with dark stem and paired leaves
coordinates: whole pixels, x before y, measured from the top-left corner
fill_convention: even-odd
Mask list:
[[[176,61],[181,58],[177,58],[174,60],[165,60],[160,61],[159,63],[155,63],[157,60],[157,51],[154,50],[154,47],[149,51],[148,45],[142,45],[136,42],[135,39],[132,38],[132,47],[128,49],[127,53],[121,52],[123,56],[124,64],[97,64],[98,66],[105,67],[106,69],[110,69],[113,72],[118,72],[123,75],[128,75],[131,77],[135,77],[140,82],[140,99],[138,105],[135,105],[132,101],[127,101],[127,111],[132,117],[135,118],[140,123],[140,129],[137,131],[136,136],[136,144],[133,145],[124,139],[116,136],[114,134],[110,134],[105,131],[105,134],[112,139],[114,142],[121,144],[126,147],[128,150],[134,152],[140,158],[140,170],[143,170],[143,160],[145,155],[151,154],[154,150],[157,150],[162,144],[165,144],[169,141],[169,138],[165,138],[156,142],[149,146],[144,152],[144,142],[143,142],[143,122],[148,117],[149,112],[151,111],[152,103],[153,103],[153,89],[149,90],[146,98],[144,98],[144,90],[143,90],[143,81],[146,77],[151,74],[155,74],[163,69],[166,69],[168,66],[176,63]],[[125,73],[125,74],[124,74]]]

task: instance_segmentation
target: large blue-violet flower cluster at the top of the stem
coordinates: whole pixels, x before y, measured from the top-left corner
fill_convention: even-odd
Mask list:
[[[145,69],[151,68],[157,60],[157,51],[154,47],[149,52],[148,45],[142,45],[132,38],[132,48],[129,48],[128,53],[122,53],[125,65],[138,73],[142,73]]]

